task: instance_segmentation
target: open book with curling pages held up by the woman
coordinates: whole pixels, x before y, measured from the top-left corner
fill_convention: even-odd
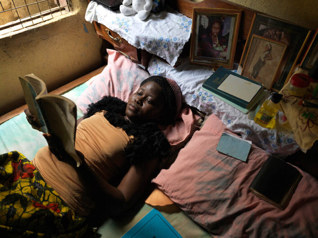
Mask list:
[[[65,152],[81,165],[75,150],[76,105],[60,95],[47,94],[46,85],[34,74],[19,77],[25,101],[30,112],[38,119],[41,131],[60,139]]]

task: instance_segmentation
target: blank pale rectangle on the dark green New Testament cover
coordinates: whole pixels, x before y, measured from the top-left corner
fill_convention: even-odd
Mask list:
[[[222,84],[218,86],[218,90],[229,93],[246,102],[250,102],[261,87],[261,85],[254,84],[230,74],[225,78]]]

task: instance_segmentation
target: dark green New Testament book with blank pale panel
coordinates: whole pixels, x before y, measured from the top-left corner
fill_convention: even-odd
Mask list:
[[[220,66],[202,85],[204,90],[247,108],[263,91],[262,84]]]

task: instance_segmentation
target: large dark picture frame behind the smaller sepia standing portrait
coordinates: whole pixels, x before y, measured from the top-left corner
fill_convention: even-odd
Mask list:
[[[287,44],[285,55],[279,65],[271,88],[278,92],[291,77],[311,32],[305,27],[297,26],[290,22],[262,14],[255,14],[239,65],[243,67],[246,61],[248,47],[254,34]]]

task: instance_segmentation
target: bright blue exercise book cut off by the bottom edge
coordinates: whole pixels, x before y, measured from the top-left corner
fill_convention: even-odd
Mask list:
[[[182,238],[173,226],[153,208],[121,238]]]

